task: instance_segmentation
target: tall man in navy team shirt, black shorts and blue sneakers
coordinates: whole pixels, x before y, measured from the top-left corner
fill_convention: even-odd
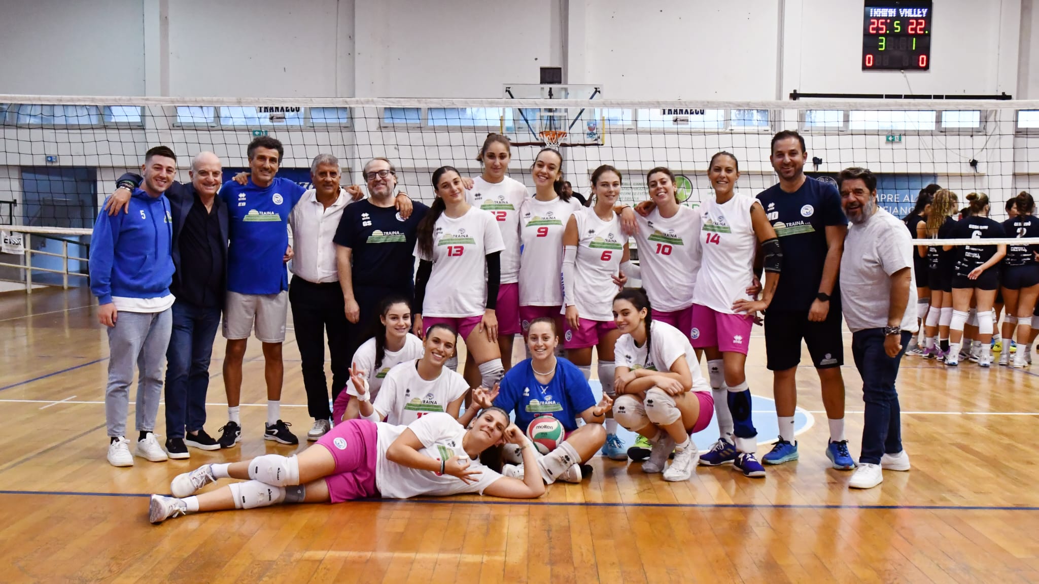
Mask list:
[[[757,195],[783,253],[783,277],[765,315],[765,351],[773,373],[779,441],[762,461],[780,464],[798,458],[795,373],[803,339],[819,373],[829,420],[826,456],[834,469],[850,470],[855,461],[844,435],[844,338],[837,286],[848,219],[841,211],[837,190],[804,176],[806,156],[804,138],[797,132],[783,130],[773,136],[769,158],[779,184]]]

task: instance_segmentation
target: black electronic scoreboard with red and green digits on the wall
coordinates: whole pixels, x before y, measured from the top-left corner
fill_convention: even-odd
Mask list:
[[[862,71],[931,69],[931,2],[867,0]]]

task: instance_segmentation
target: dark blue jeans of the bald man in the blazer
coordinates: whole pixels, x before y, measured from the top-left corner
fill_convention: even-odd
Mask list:
[[[220,309],[177,300],[166,348],[166,437],[184,437],[206,424],[209,359],[220,327]]]

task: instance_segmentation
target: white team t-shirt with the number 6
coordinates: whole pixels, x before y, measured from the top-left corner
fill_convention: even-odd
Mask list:
[[[620,271],[620,259],[628,241],[620,231],[620,218],[604,221],[595,209],[582,208],[574,213],[578,225],[578,254],[574,266],[574,306],[578,316],[588,320],[613,320],[613,297],[617,285],[613,276]],[[563,314],[566,308],[563,307]]]

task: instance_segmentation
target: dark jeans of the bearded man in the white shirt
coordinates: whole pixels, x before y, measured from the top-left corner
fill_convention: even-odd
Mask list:
[[[912,333],[902,331],[902,350],[895,357],[884,352],[883,328],[856,330],[851,336],[851,352],[862,376],[865,420],[862,455],[859,462],[879,464],[880,457],[902,452],[902,421],[895,379]]]

